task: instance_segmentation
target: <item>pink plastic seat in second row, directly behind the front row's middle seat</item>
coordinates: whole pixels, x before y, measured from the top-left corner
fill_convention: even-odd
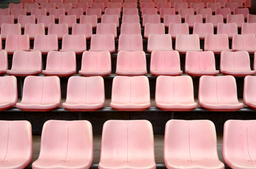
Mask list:
[[[114,77],[110,106],[117,111],[144,111],[149,108],[151,103],[148,77]]]

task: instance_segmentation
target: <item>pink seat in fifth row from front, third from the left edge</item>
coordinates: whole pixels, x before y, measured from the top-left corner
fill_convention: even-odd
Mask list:
[[[69,34],[69,27],[66,23],[51,23],[48,27],[48,35],[56,34],[58,39],[62,39],[64,35]]]

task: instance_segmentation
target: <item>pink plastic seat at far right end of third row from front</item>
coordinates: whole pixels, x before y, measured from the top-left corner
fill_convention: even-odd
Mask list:
[[[250,56],[247,51],[222,51],[221,73],[224,75],[246,76],[254,75],[256,70],[250,68]]]

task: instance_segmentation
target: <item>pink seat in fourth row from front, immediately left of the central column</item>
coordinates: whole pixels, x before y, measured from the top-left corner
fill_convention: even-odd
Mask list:
[[[110,51],[110,53],[115,52],[114,35],[92,35],[90,51]]]

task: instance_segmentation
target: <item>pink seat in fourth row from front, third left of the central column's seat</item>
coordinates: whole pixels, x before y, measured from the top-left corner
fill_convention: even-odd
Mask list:
[[[58,51],[57,35],[35,35],[34,49],[32,51],[41,51],[42,54],[47,54],[49,51]]]

